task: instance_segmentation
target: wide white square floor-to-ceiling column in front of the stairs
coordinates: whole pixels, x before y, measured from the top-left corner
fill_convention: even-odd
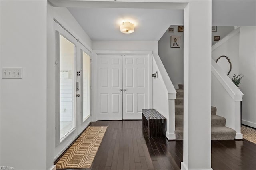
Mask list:
[[[212,2],[184,9],[184,149],[181,170],[211,169]]]

